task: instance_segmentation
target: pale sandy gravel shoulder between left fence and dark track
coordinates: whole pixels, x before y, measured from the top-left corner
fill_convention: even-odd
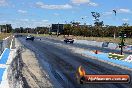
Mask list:
[[[21,60],[23,64],[22,75],[25,78],[28,87],[53,88],[53,85],[50,82],[47,73],[39,65],[34,52],[30,51],[27,48],[23,48],[21,53]]]

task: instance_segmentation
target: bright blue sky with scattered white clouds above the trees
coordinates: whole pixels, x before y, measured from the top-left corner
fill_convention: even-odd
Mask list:
[[[0,0],[0,24],[13,28],[71,21],[93,25],[91,12],[98,12],[105,25],[132,25],[131,4],[132,0]]]

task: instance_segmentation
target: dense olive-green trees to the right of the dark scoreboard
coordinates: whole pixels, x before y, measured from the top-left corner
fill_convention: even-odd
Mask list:
[[[132,26],[79,26],[66,24],[64,25],[63,34],[84,37],[113,37],[115,34],[118,37],[121,31],[124,31],[127,37],[132,37]]]

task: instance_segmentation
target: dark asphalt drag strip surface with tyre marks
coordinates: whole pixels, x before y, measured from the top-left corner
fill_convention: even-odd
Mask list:
[[[50,80],[53,85],[57,87],[63,88],[132,88],[132,84],[78,84],[76,80],[76,70],[82,65],[86,72],[89,74],[122,74],[113,69],[109,69],[108,67],[102,67],[96,63],[89,61],[86,57],[81,56],[79,54],[75,54],[70,50],[62,47],[56,46],[54,43],[65,44],[59,40],[53,40],[49,38],[41,38],[35,39],[34,41],[26,41],[25,37],[18,38],[20,42],[28,49],[32,50],[38,61],[40,66],[43,67],[44,70],[47,70]],[[69,44],[68,44],[69,45]],[[110,49],[101,49],[99,47],[93,46],[85,46],[79,44],[71,45],[73,47],[81,47],[81,48],[89,48],[89,49],[99,49],[104,52],[114,51],[119,52],[117,50]],[[129,52],[125,52],[129,53]],[[48,66],[44,65],[44,63],[48,63]],[[96,61],[95,61],[96,62]],[[113,67],[114,68],[114,67]],[[124,73],[124,72],[123,72]],[[126,72],[128,74],[128,72]],[[130,73],[132,74],[132,73]]]

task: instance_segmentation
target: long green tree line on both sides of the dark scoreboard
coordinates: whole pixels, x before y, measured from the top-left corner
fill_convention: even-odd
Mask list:
[[[116,37],[119,36],[121,31],[127,34],[127,37],[132,37],[132,26],[92,26],[92,25],[79,25],[79,23],[74,22],[73,24],[64,24],[61,35],[74,35],[74,36],[84,36],[84,37]],[[15,28],[15,33],[34,33],[34,34],[52,34],[52,28],[49,27],[36,27],[36,28]]]

